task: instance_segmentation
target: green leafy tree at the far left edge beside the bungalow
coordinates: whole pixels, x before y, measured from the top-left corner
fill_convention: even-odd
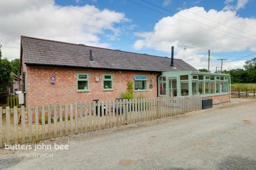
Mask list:
[[[1,47],[2,46],[0,46],[0,92],[7,92],[8,88],[11,87],[12,84],[12,67],[7,58],[2,60]]]

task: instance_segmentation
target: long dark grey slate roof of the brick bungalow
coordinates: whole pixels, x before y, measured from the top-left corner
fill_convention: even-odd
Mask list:
[[[93,69],[131,71],[197,71],[188,63],[171,58],[121,50],[64,43],[47,39],[21,36],[23,60],[27,65],[84,67]],[[90,61],[90,49],[94,61]]]

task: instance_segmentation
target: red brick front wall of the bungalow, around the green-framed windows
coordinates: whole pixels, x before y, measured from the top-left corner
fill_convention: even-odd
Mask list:
[[[125,92],[127,81],[134,82],[134,74],[147,75],[148,91],[134,92],[134,97],[157,97],[157,75],[149,72],[130,72],[130,71],[103,71],[103,70],[84,70],[84,69],[66,69],[52,67],[27,66],[27,94],[26,106],[31,105],[57,105],[69,104],[74,102],[99,100],[114,100],[121,98],[121,92]],[[77,73],[89,73],[90,91],[77,92]],[[103,91],[102,74],[113,74],[113,91]],[[55,83],[51,84],[50,77],[55,75]],[[95,77],[100,80],[95,82]],[[149,89],[151,78],[154,77],[153,88]]]

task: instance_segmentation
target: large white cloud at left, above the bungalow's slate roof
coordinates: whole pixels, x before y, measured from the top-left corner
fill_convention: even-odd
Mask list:
[[[54,4],[53,0],[0,1],[0,44],[3,45],[3,56],[10,60],[19,57],[21,35],[109,47],[110,44],[100,42],[98,35],[115,39],[121,30],[114,27],[114,23],[130,21],[124,13],[108,9],[99,10],[91,5],[71,7],[110,22],[93,18],[69,6]],[[112,33],[106,34],[105,30]]]

